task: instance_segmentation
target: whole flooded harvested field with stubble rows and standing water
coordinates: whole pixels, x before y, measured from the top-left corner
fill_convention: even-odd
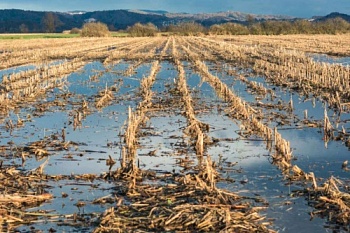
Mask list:
[[[0,231],[348,232],[350,54],[303,39],[1,42]]]

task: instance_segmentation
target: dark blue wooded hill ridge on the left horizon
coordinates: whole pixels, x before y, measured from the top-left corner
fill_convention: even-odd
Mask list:
[[[16,9],[0,10],[0,33],[44,32],[47,13]],[[53,15],[56,32],[70,30],[74,27],[81,28],[91,19],[107,24],[110,30],[126,29],[137,22],[151,22],[161,27],[169,20],[161,14],[135,13],[129,10],[50,12],[50,14]]]

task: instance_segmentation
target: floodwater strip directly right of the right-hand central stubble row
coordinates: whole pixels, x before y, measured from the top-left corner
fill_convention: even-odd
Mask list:
[[[200,93],[205,93],[201,96],[201,100],[209,106],[213,103],[212,96],[215,93],[204,84],[199,87],[198,78],[198,75],[192,74],[188,83],[190,86],[192,84],[193,88],[200,89],[198,90]],[[220,78],[246,101],[254,99],[253,95],[245,91],[246,87],[243,83],[236,82],[229,76]],[[225,106],[220,100],[217,100],[216,104],[216,106]],[[279,232],[306,230],[323,232],[325,230],[324,220],[318,218],[310,221],[309,212],[312,208],[307,205],[303,197],[293,196],[293,190],[299,190],[300,187],[288,184],[281,171],[271,164],[269,151],[264,142],[242,139],[238,134],[237,122],[229,119],[220,108],[214,107],[210,112],[200,114],[199,119],[210,124],[210,137],[223,139],[208,149],[208,154],[219,161],[222,176],[231,180],[231,183],[219,183],[219,187],[237,192],[242,196],[258,198],[262,203],[266,203],[264,204],[267,207],[266,212],[262,214],[268,219],[273,219],[273,228]],[[312,164],[311,161],[308,163]]]

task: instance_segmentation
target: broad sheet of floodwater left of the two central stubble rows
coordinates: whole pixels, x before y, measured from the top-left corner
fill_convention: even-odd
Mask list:
[[[128,67],[128,63],[121,63],[114,67],[114,70],[121,71]],[[64,108],[52,107],[49,111],[39,117],[32,114],[33,109],[22,109],[19,115],[22,118],[32,115],[30,121],[25,122],[22,128],[15,129],[12,132],[2,132],[1,144],[7,144],[12,141],[17,146],[25,146],[31,142],[39,141],[46,136],[50,136],[61,129],[66,130],[66,141],[73,141],[78,144],[68,151],[50,151],[49,163],[45,167],[45,173],[48,175],[65,175],[67,179],[57,182],[49,182],[48,192],[54,195],[54,199],[49,203],[44,203],[38,208],[30,209],[31,212],[45,211],[50,218],[39,223],[31,224],[31,227],[48,231],[50,228],[57,232],[91,232],[96,227],[97,217],[103,213],[112,204],[92,204],[97,198],[112,196],[113,188],[118,185],[112,182],[96,179],[90,181],[77,181],[75,175],[96,174],[97,176],[108,172],[109,167],[106,165],[106,159],[111,155],[118,161],[120,157],[120,137],[119,134],[123,124],[127,119],[127,109],[129,106],[134,107],[137,99],[132,97],[138,90],[140,79],[149,72],[149,64],[144,64],[135,71],[132,77],[124,77],[122,74],[105,73],[97,81],[90,81],[90,77],[105,70],[99,62],[88,64],[83,72],[71,74],[68,77],[69,85],[65,90],[54,90],[49,93],[45,101],[54,100],[56,95],[72,93],[68,103]],[[72,112],[77,109],[76,103],[82,100],[90,101],[93,95],[104,90],[107,86],[114,85],[117,80],[122,79],[123,85],[118,93],[115,93],[115,102],[103,108],[100,111],[91,111],[77,129],[73,129],[70,124],[72,121]],[[93,109],[93,102],[91,109]],[[10,117],[15,121],[16,114]],[[27,159],[24,166],[21,167],[21,159],[8,159],[4,164],[17,164],[19,169],[30,171],[42,164],[45,159],[37,161]],[[119,165],[119,162],[117,163]],[[71,178],[69,178],[71,176]],[[67,194],[67,197],[62,193]],[[77,203],[83,202],[85,205],[78,208]],[[78,221],[74,226],[72,220],[73,214],[83,221]],[[54,218],[51,217],[55,216]],[[21,232],[27,232],[29,226],[18,228]]]

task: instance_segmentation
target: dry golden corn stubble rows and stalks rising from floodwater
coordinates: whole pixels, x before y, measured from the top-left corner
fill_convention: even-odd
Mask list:
[[[305,52],[326,50],[328,54],[348,55],[350,51],[346,46],[350,47],[348,44],[350,40],[334,37],[343,48],[338,51],[335,49],[336,46],[331,46],[332,40],[328,36],[325,38],[315,36],[313,40],[307,41],[308,44],[302,43],[305,40],[304,36],[288,37],[283,40],[280,38],[263,36],[77,38],[3,42],[0,44],[2,51],[0,58],[4,61],[0,64],[1,69],[30,64],[39,66],[2,76],[1,114],[6,116],[25,103],[35,102],[54,88],[64,89],[68,85],[67,75],[81,70],[90,61],[100,60],[106,67],[106,71],[91,77],[90,81],[98,80],[104,72],[109,71],[109,66],[122,60],[134,62],[123,72],[124,76],[133,76],[140,65],[152,62],[149,76],[143,78],[140,83],[138,95],[141,100],[135,109],[128,110],[120,167],[115,171],[110,170],[108,174],[109,178],[124,182],[125,188],[122,191],[124,196],[118,197],[114,208],[106,210],[100,218],[100,226],[94,232],[273,232],[269,227],[271,223],[259,214],[265,206],[253,207],[244,197],[217,187],[220,173],[216,163],[207,153],[208,145],[212,143],[212,139],[208,136],[210,127],[196,117],[194,100],[187,87],[186,71],[183,66],[183,62],[187,61],[199,73],[202,82],[207,82],[217,96],[227,103],[225,111],[232,120],[241,124],[242,136],[249,138],[254,135],[263,139],[270,151],[273,164],[281,170],[285,179],[306,184],[304,195],[315,207],[312,216],[327,216],[330,222],[346,226],[349,224],[350,203],[343,182],[330,177],[324,184],[319,184],[319,179],[313,172],[304,172],[297,165],[293,165],[290,142],[282,137],[277,128],[269,127],[262,120],[263,113],[259,109],[242,100],[213,75],[204,62],[223,61],[229,66],[249,68],[254,74],[265,76],[275,85],[293,89],[301,95],[312,94],[314,97],[320,97],[328,103],[328,106],[339,112],[348,111],[349,66],[315,62]],[[290,41],[293,41],[293,44]],[[89,46],[86,46],[86,43],[89,43]],[[181,99],[181,110],[187,119],[187,127],[183,134],[188,138],[191,151],[195,152],[199,169],[183,175],[157,177],[139,168],[137,151],[140,128],[147,123],[150,112],[153,111],[154,93],[151,88],[163,60],[173,63],[178,72],[174,86],[176,95]],[[52,63],[55,61],[59,63]],[[227,73],[237,75],[232,70],[227,70]],[[274,98],[272,89],[249,81],[243,75],[237,77],[246,83],[253,93],[260,96],[271,95],[271,98]],[[74,129],[82,125],[87,114],[112,104],[115,100],[114,93],[118,92],[121,85],[122,82],[117,86],[106,86],[94,96],[92,105],[85,100],[80,103],[71,113]],[[45,106],[38,105],[38,108],[45,111]],[[285,108],[293,112],[292,98]],[[304,118],[303,122],[309,126],[312,122],[308,119],[307,111],[304,112]],[[25,120],[18,116],[17,123],[9,120],[6,122],[6,128],[13,130],[24,124]],[[325,107],[323,131],[325,141],[333,140],[335,128],[328,118],[327,107]],[[342,133],[347,135],[344,128]],[[13,188],[8,180],[17,180],[23,187],[26,187],[25,184],[29,180],[34,181],[35,185],[41,182],[45,174],[44,167],[50,157],[49,148],[59,150],[73,145],[72,142],[65,140],[64,130],[58,137],[61,137],[61,140],[49,142],[48,139],[44,139],[33,143],[27,150],[19,151],[23,162],[31,156],[46,160],[42,166],[31,171],[29,177],[18,173],[14,168],[1,168],[0,178],[4,181],[1,189]],[[112,157],[109,157],[108,161],[115,163]],[[147,177],[166,182],[163,185],[149,185],[143,182]],[[10,202],[14,206],[19,203],[35,206],[52,198],[45,193],[34,197],[27,190],[19,191],[19,194],[12,198],[7,194],[0,198],[0,211],[4,213],[2,216],[5,216],[0,219],[2,222],[13,222],[14,225],[21,222],[20,215],[10,213],[6,207]]]

